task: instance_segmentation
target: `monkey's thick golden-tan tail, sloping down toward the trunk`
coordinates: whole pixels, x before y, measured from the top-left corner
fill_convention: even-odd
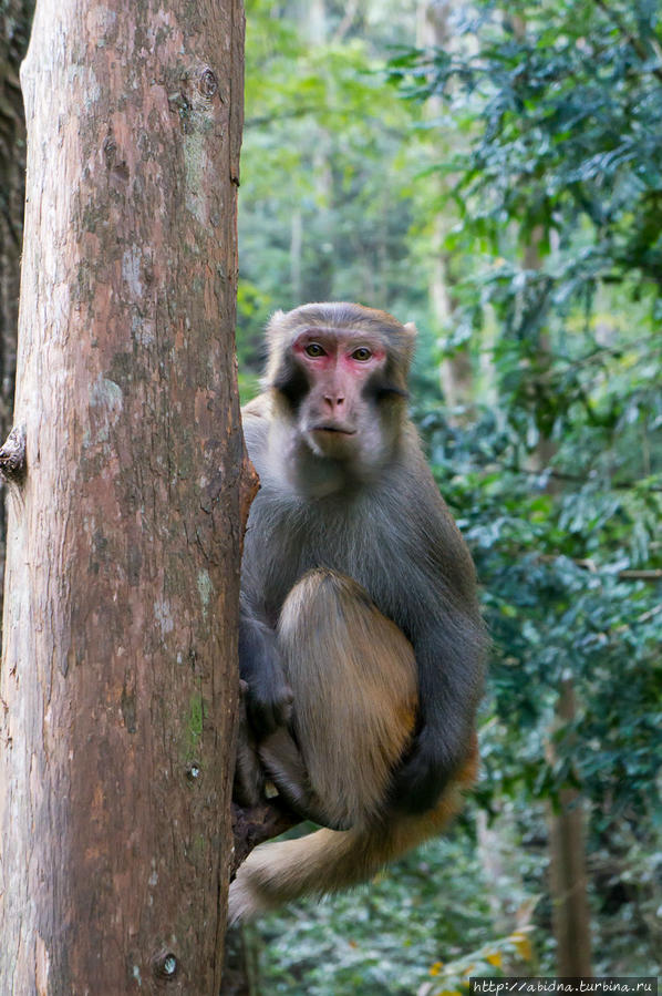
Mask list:
[[[462,779],[468,782],[469,779]],[[389,813],[379,824],[318,830],[252,851],[230,885],[230,923],[251,920],[303,895],[322,897],[370,879],[383,865],[438,833],[462,805],[459,783],[423,815]]]

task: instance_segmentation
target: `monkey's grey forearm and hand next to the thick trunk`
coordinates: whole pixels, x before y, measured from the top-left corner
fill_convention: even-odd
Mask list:
[[[292,711],[292,689],[286,681],[276,633],[248,598],[241,597],[239,674],[248,685],[246,708],[259,736],[286,726]]]

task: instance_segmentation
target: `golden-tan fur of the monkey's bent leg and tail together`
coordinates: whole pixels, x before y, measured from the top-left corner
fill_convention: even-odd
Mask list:
[[[475,776],[473,756],[424,815],[399,814],[386,804],[391,772],[412,735],[416,667],[410,643],[355,582],[309,572],[282,607],[278,639],[309,779],[302,804],[351,829],[318,830],[252,851],[230,886],[230,921],[364,881],[437,833],[459,808],[459,787]],[[270,756],[268,748],[267,762]]]

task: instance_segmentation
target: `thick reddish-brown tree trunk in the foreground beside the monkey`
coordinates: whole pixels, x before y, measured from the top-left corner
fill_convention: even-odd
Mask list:
[[[239,0],[39,0],[0,696],[0,993],[217,996],[244,456]]]

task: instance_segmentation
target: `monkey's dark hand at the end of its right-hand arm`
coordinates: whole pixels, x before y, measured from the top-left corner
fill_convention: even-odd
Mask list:
[[[461,763],[462,758],[452,757],[438,735],[423,727],[393,773],[392,805],[415,814],[434,809]]]

